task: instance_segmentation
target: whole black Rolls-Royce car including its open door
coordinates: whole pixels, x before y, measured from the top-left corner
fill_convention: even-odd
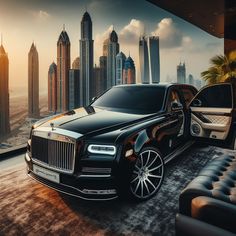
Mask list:
[[[235,148],[235,88],[121,85],[90,106],[40,120],[26,153],[28,175],[90,200],[152,197],[165,164],[193,140]]]

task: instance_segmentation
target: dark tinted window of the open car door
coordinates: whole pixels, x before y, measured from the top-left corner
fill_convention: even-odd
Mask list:
[[[204,88],[192,101],[191,106],[232,108],[231,85],[220,84]]]

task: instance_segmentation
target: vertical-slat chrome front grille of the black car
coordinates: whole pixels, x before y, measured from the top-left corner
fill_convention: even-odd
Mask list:
[[[75,143],[32,136],[32,159],[61,172],[72,173],[75,160]]]

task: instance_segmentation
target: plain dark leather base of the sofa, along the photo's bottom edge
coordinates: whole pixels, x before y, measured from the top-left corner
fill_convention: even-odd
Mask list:
[[[176,236],[235,236],[235,234],[194,218],[177,214],[175,219]]]

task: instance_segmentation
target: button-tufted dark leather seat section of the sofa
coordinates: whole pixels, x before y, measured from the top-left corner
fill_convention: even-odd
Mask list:
[[[179,212],[191,216],[191,202],[208,196],[236,205],[236,157],[225,155],[207,164],[179,198]]]

